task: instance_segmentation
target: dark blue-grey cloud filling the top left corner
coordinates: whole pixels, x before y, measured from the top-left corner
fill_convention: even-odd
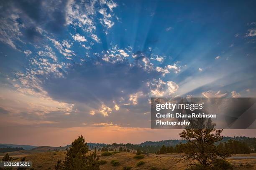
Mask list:
[[[50,33],[60,33],[66,24],[67,0],[61,1],[38,1],[38,0],[11,0],[0,1],[1,15],[6,17],[17,11],[20,21],[24,23],[25,36],[33,40],[38,34],[36,26],[44,28]]]

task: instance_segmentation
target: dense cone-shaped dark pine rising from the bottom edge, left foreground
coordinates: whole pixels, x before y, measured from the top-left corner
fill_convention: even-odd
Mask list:
[[[57,168],[56,170],[99,170],[100,162],[99,155],[96,155],[96,148],[94,153],[87,156],[88,150],[84,137],[80,135],[67,150],[64,163],[58,160],[54,168]]]

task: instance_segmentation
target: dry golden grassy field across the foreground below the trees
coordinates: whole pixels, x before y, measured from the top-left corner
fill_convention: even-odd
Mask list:
[[[100,154],[100,152],[99,152]],[[0,158],[3,157],[3,153],[1,153]],[[26,151],[18,151],[10,153],[13,158],[18,158],[15,161],[20,160],[23,156],[26,156],[26,161],[31,161],[32,166],[35,170],[54,170],[54,165],[57,160],[64,160],[65,151],[46,151],[46,152],[34,152],[30,150]],[[135,153],[117,153],[111,156],[100,157],[101,160],[106,160],[107,163],[100,166],[101,170],[123,170],[124,166],[132,167],[132,170],[150,170],[152,167],[156,168],[156,170],[183,170],[185,168],[185,163],[175,163],[174,155],[177,154],[163,154],[163,155],[155,155],[150,154],[149,156],[144,155],[145,158],[141,159],[145,162],[144,165],[139,167],[136,164],[141,160],[136,160],[133,157]],[[256,156],[256,154],[250,155],[235,155],[235,156],[243,156],[250,157]],[[120,165],[113,166],[110,162],[111,160],[118,160]],[[256,170],[256,159],[228,159],[230,163],[233,165],[234,170]]]

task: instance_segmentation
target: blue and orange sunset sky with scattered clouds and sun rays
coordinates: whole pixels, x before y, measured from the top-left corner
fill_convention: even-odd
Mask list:
[[[255,6],[0,0],[0,143],[178,139],[151,130],[150,97],[256,97]]]

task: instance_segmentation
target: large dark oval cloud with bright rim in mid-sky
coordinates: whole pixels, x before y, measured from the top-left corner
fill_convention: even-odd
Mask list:
[[[55,100],[69,103],[113,102],[139,90],[147,93],[146,82],[159,75],[130,66],[128,61],[113,64],[103,60],[74,64],[66,72],[64,78],[53,75],[44,79],[43,87]]]

